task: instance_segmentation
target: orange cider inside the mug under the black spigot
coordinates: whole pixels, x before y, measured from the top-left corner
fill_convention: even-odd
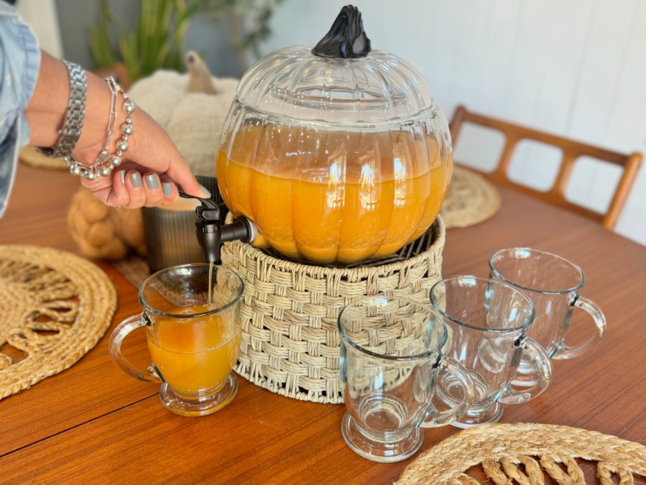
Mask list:
[[[195,314],[207,305],[191,305],[169,313]],[[231,372],[240,349],[240,333],[216,314],[186,318],[157,318],[157,342],[148,333],[148,348],[164,381],[174,391],[196,395],[217,391]]]

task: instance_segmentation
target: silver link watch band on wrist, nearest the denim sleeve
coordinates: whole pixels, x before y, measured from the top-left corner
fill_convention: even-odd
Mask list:
[[[87,94],[87,79],[84,69],[74,62],[63,61],[69,73],[69,101],[67,113],[59,138],[54,147],[37,147],[46,157],[69,157],[81,136],[83,118],[85,117],[85,100]]]

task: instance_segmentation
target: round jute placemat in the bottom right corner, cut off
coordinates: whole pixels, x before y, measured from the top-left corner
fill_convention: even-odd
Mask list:
[[[498,485],[585,484],[576,458],[596,462],[596,476],[611,485],[646,476],[646,446],[596,431],[533,423],[490,424],[463,430],[411,462],[396,484],[469,484],[465,474],[480,465]]]

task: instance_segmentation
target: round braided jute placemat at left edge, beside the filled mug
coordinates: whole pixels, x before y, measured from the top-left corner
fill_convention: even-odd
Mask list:
[[[71,367],[117,306],[95,264],[50,247],[0,245],[0,399]]]

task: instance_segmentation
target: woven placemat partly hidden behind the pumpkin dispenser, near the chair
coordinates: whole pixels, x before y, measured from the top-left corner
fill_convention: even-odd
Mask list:
[[[482,175],[453,165],[450,187],[440,214],[446,228],[465,228],[498,212],[500,194]]]

